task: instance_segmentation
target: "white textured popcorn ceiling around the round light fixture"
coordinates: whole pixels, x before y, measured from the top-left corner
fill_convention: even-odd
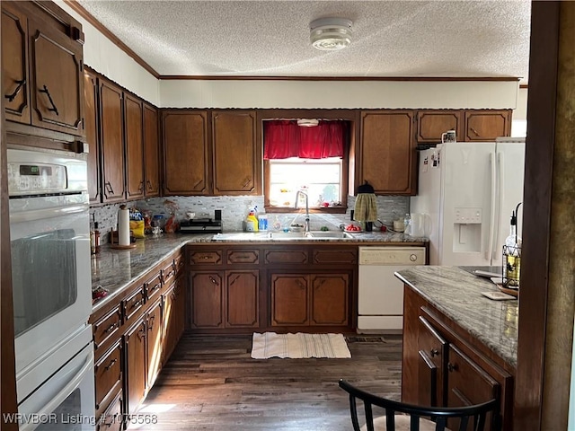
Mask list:
[[[516,76],[530,2],[100,1],[86,11],[159,75]],[[353,21],[341,51],[310,45],[317,18]]]

